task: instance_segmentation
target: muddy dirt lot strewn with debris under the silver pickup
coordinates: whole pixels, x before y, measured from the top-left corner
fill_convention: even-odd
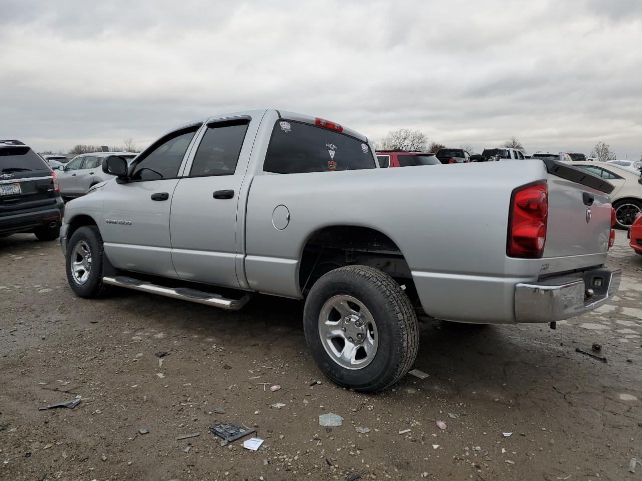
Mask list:
[[[629,473],[642,460],[642,257],[623,232],[611,266],[620,296],[599,312],[557,330],[424,324],[415,368],[429,377],[363,395],[322,377],[298,302],[228,313],[134,291],[82,300],[57,242],[0,239],[0,478],[642,479],[642,465]],[[607,363],[575,351],[594,342]],[[77,395],[74,409],[38,409]],[[343,426],[319,426],[327,412]],[[209,433],[220,421],[265,443],[223,447]]]

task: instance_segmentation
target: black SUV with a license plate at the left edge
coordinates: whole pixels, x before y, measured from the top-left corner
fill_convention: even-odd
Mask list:
[[[0,140],[0,237],[33,232],[53,241],[64,210],[58,178],[42,157],[19,140]]]

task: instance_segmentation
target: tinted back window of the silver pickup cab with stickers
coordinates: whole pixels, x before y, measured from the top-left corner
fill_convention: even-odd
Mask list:
[[[277,121],[263,170],[277,174],[375,169],[368,144],[349,135],[295,121]]]

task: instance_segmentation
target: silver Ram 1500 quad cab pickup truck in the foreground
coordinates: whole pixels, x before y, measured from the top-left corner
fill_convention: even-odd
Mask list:
[[[394,384],[418,317],[553,323],[607,301],[620,271],[612,185],[553,161],[379,169],[372,143],[278,110],[171,130],[67,204],[71,289],[111,286],[229,310],[305,300],[304,332],[339,385]]]

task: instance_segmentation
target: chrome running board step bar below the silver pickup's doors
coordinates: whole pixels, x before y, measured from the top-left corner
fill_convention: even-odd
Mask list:
[[[225,310],[239,310],[250,300],[250,294],[245,294],[240,299],[229,299],[224,298],[220,294],[214,294],[213,292],[196,291],[196,289],[189,289],[187,287],[177,287],[173,289],[127,276],[103,277],[103,282],[109,285],[117,285],[118,287],[126,287],[126,289],[134,289],[135,291],[150,292],[168,298],[220,307]]]

